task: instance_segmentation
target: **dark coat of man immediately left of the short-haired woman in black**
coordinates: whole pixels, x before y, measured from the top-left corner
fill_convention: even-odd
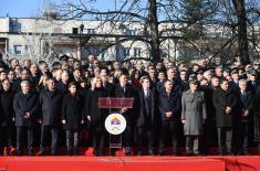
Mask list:
[[[63,95],[54,89],[51,93],[49,89],[43,89],[40,94],[40,106],[42,113],[43,126],[59,126],[61,124]]]

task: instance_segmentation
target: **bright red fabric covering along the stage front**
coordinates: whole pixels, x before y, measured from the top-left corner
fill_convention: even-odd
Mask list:
[[[256,171],[260,157],[2,157],[0,171]]]

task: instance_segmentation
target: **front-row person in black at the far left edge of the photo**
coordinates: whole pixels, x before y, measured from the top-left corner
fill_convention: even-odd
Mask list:
[[[7,146],[7,156],[11,154],[12,135],[14,131],[14,92],[10,86],[10,81],[2,81],[2,90],[0,92],[0,156],[3,154],[4,145]]]

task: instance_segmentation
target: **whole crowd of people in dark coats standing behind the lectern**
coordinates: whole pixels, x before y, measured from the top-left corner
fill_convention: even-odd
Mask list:
[[[54,156],[62,146],[67,154],[93,146],[94,156],[103,156],[110,110],[98,107],[100,97],[134,98],[133,108],[113,109],[127,122],[127,156],[163,156],[166,147],[178,156],[181,146],[187,156],[210,154],[210,147],[221,156],[249,154],[249,146],[260,145],[259,71],[258,61],[227,63],[220,55],[194,64],[94,55],[82,63],[63,55],[52,65],[0,56],[0,156],[12,147],[17,156],[24,147],[29,156],[38,148]]]

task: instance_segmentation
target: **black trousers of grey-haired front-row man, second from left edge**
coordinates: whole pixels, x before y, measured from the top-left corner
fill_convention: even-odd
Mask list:
[[[32,153],[33,129],[31,127],[17,127],[17,154],[22,153],[22,145],[25,141],[25,137],[28,143],[28,153]]]

